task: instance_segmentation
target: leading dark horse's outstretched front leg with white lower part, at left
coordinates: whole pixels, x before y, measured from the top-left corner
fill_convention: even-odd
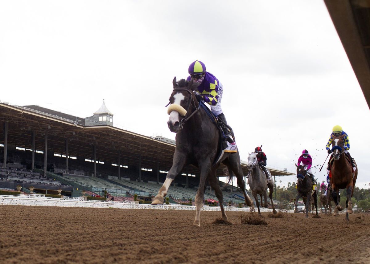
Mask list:
[[[161,189],[159,189],[157,196],[154,197],[152,204],[163,204],[164,197],[167,194],[168,187],[175,177],[181,172],[186,162],[186,156],[175,151],[172,167],[168,171],[166,180],[164,181]]]

